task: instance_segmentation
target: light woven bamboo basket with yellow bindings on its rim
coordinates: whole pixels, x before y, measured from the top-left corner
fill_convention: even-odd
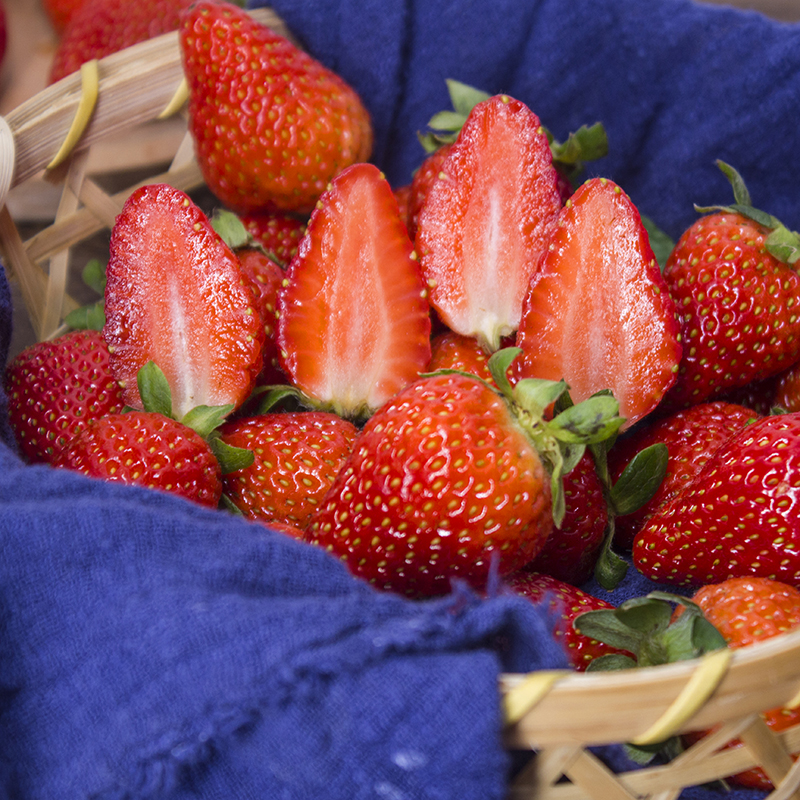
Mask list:
[[[270,11],[253,14],[288,35]],[[80,131],[73,130],[85,102],[78,74],[0,118],[0,251],[38,339],[63,330],[63,317],[77,305],[67,291],[71,271],[81,266],[75,253],[91,237],[110,230],[136,186],[159,181],[190,191],[202,185],[185,118],[176,111],[182,82],[177,35],[105,58],[98,74],[96,104]],[[109,192],[94,179],[92,165],[106,170],[117,165],[124,171],[125,153],[115,137],[132,130],[140,143],[152,142],[150,173]],[[68,157],[48,169],[65,141],[72,143]],[[58,187],[60,201],[53,218],[26,239],[25,226],[7,200],[43,180]],[[800,630],[745,650],[718,651],[663,667],[506,674],[500,696],[506,746],[531,754],[509,787],[513,800],[673,800],[687,786],[757,765],[777,787],[769,794],[772,800],[800,800],[800,761],[794,763],[789,755],[800,750],[800,726],[775,734],[761,716],[774,707],[800,705]],[[623,774],[611,772],[590,750],[653,743],[712,727],[715,733],[669,764]],[[735,739],[740,746],[724,749]]]

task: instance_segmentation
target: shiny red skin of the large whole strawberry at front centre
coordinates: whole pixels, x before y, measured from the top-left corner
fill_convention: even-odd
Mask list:
[[[519,569],[552,528],[542,462],[505,401],[470,376],[422,378],[366,423],[307,538],[377,587],[442,594]]]

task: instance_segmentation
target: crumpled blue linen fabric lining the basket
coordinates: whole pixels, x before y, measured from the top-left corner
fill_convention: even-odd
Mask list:
[[[362,95],[396,186],[452,77],[562,138],[603,121],[611,152],[590,174],[673,236],[693,202],[729,199],[716,158],[797,224],[795,26],[687,0],[272,5]],[[10,328],[0,272],[3,361]],[[261,526],[26,466],[5,409],[0,390],[0,797],[504,795],[497,676],[563,665],[546,614],[462,587],[379,594]]]

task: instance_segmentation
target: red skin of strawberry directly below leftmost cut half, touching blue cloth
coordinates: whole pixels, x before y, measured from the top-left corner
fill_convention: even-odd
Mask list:
[[[203,438],[147,411],[95,420],[61,452],[55,466],[177,494],[212,508],[222,495],[219,463]]]

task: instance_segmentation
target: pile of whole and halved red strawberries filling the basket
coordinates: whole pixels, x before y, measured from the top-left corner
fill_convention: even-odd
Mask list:
[[[393,190],[338,76],[227,3],[177,18],[225,211],[131,195],[102,331],[6,370],[27,459],[221,506],[413,597],[509,576],[571,620],[610,610],[577,587],[613,586],[615,549],[677,587],[800,585],[800,250],[733,168],[734,203],[660,266],[620,186],[573,189],[596,127],[565,147],[453,82]],[[631,658],[565,630],[579,669]]]

